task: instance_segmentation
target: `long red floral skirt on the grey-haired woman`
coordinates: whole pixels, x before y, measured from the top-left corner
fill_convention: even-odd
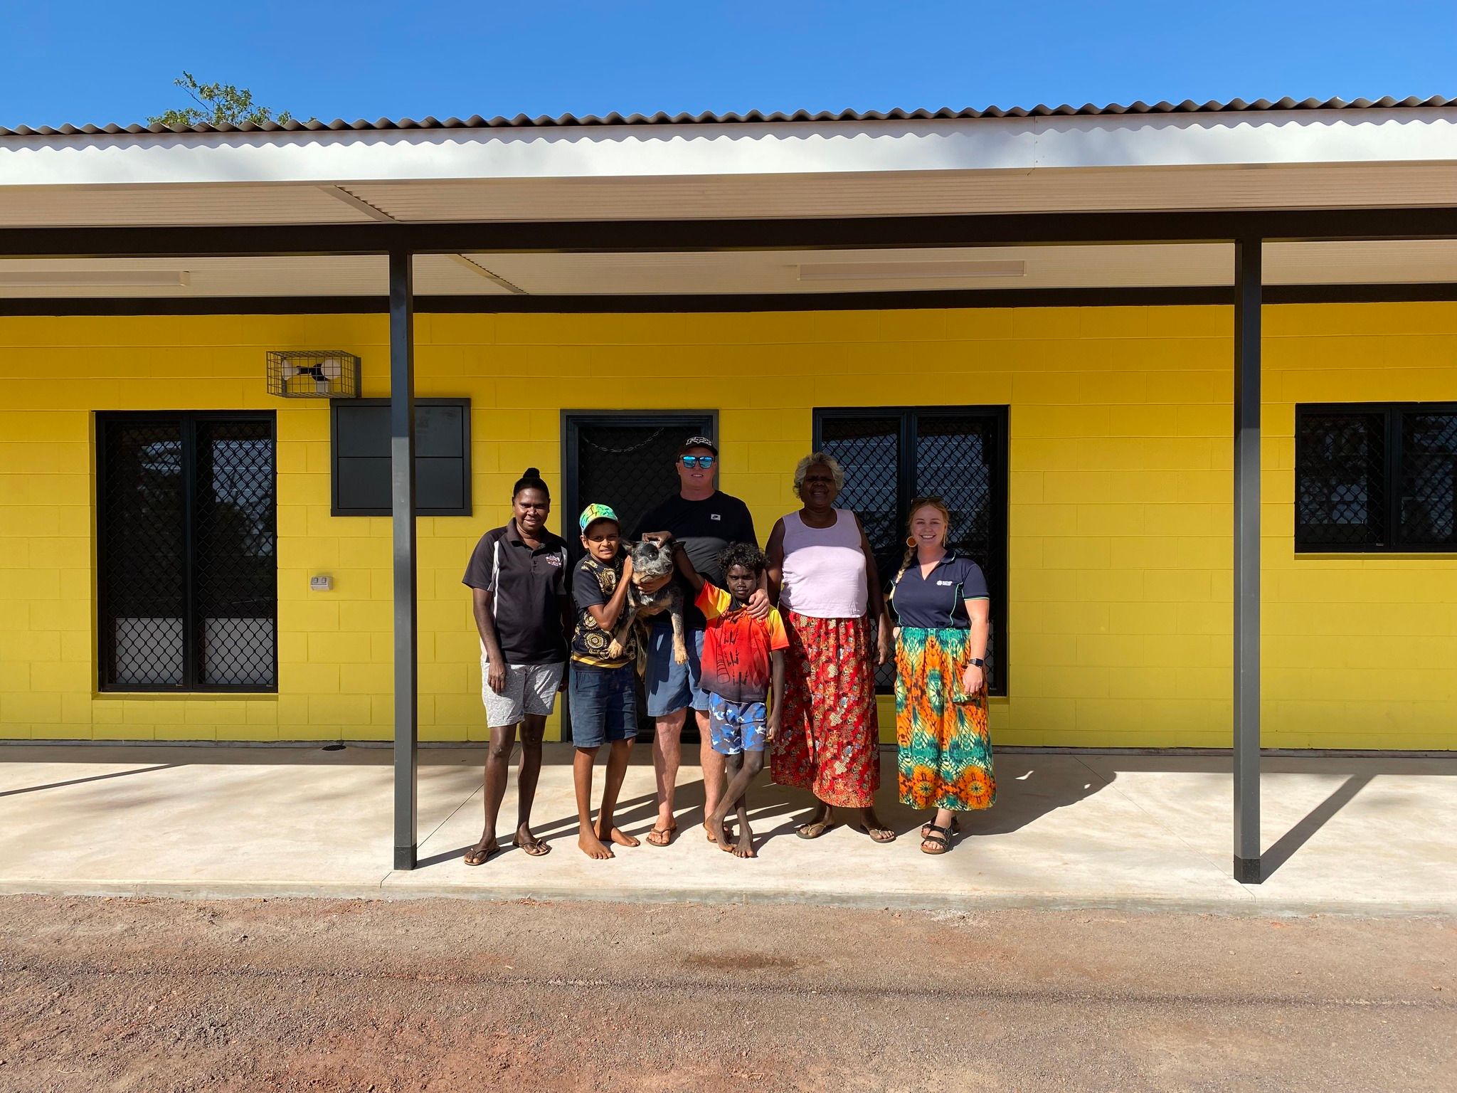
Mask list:
[[[864,809],[880,788],[880,718],[870,621],[784,615],[784,716],[769,749],[779,786]]]

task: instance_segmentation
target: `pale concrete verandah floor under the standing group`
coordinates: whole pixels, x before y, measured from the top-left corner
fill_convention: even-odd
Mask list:
[[[0,892],[1457,914],[1457,756],[1268,758],[1260,886],[1230,876],[1221,756],[998,753],[997,806],[965,818],[941,857],[919,853],[924,816],[895,800],[893,749],[877,807],[896,842],[848,828],[798,839],[807,796],[761,783],[755,860],[707,842],[701,774],[685,767],[679,838],[592,861],[577,850],[571,749],[548,745],[533,825],[552,853],[510,847],[513,772],[506,850],[471,869],[482,761],[481,748],[421,751],[420,867],[395,871],[388,749],[3,746]],[[599,762],[597,794],[600,780]],[[654,815],[638,748],[618,820],[641,838]]]

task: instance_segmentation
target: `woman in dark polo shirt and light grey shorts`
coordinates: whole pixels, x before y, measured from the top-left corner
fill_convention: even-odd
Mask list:
[[[481,701],[491,748],[485,755],[485,831],[465,853],[479,866],[500,850],[495,818],[506,796],[506,764],[522,729],[522,765],[516,775],[516,835],[532,857],[551,847],[532,834],[532,802],[542,771],[542,733],[567,670],[571,596],[567,544],[546,530],[551,491],[535,466],[511,490],[511,522],[481,536],[462,581],[472,589],[481,634]]]

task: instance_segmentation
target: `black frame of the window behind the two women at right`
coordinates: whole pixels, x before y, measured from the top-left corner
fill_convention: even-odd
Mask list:
[[[991,501],[991,542],[992,560],[983,568],[986,583],[991,590],[991,624],[997,638],[995,670],[988,694],[997,698],[1008,695],[1011,681],[1011,641],[1007,631],[1007,560],[1008,549],[1008,504],[1011,493],[1011,465],[1008,459],[1010,437],[1010,407],[1007,405],[973,405],[973,407],[816,407],[813,411],[812,446],[819,452],[823,449],[826,421],[833,418],[880,418],[899,421],[898,466],[896,466],[896,514],[898,525],[905,526],[906,509],[916,497],[916,440],[918,424],[922,418],[969,420],[978,418],[992,423],[992,501]],[[997,564],[1000,563],[1000,564]],[[895,576],[895,574],[889,574]],[[883,581],[889,580],[881,574]],[[889,592],[889,586],[884,589]],[[889,688],[877,686],[880,694],[887,694]]]

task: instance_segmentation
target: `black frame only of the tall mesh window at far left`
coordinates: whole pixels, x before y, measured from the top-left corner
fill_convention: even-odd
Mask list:
[[[274,477],[274,589],[272,615],[267,616],[272,622],[272,685],[256,683],[207,683],[198,682],[198,641],[195,619],[192,618],[192,603],[197,599],[197,557],[194,539],[197,535],[195,512],[195,482],[197,482],[197,426],[203,421],[258,421],[268,426],[268,443],[272,449]],[[118,424],[176,424],[181,430],[182,442],[182,507],[184,526],[182,538],[185,544],[182,557],[184,603],[182,612],[182,682],[168,683],[118,683],[108,679],[108,673],[115,672],[115,627],[108,627],[111,616],[106,605],[111,602],[108,586],[108,544],[106,544],[106,506],[103,491],[106,488],[106,447],[105,428],[111,423]],[[96,514],[96,689],[106,694],[278,694],[278,415],[271,410],[137,410],[137,411],[98,411],[93,421],[96,475],[93,484],[92,512]]]

